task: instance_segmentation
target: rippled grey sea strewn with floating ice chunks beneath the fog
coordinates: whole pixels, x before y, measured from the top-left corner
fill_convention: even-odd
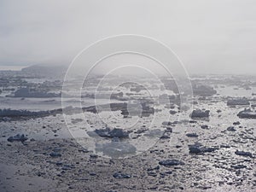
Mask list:
[[[82,108],[70,96],[72,107],[65,110],[58,97],[9,97],[15,90],[2,89],[1,101],[10,109],[0,111],[0,190],[254,191],[256,79],[218,76],[193,81],[204,86],[196,87],[190,111],[181,108],[175,91],[161,93],[154,105],[154,96],[149,98],[136,84],[119,87],[110,105],[104,100],[106,85],[98,105],[93,102],[96,96],[84,90]],[[16,84],[15,78],[10,82]],[[61,91],[56,88],[61,82],[44,82],[23,85]],[[150,89],[157,92],[159,84],[152,84]],[[94,148],[86,142],[84,148],[79,145],[62,112],[70,119],[72,133],[100,142]],[[116,119],[110,119],[110,113]],[[154,115],[161,121],[150,126]],[[138,123],[125,129],[125,122]]]

